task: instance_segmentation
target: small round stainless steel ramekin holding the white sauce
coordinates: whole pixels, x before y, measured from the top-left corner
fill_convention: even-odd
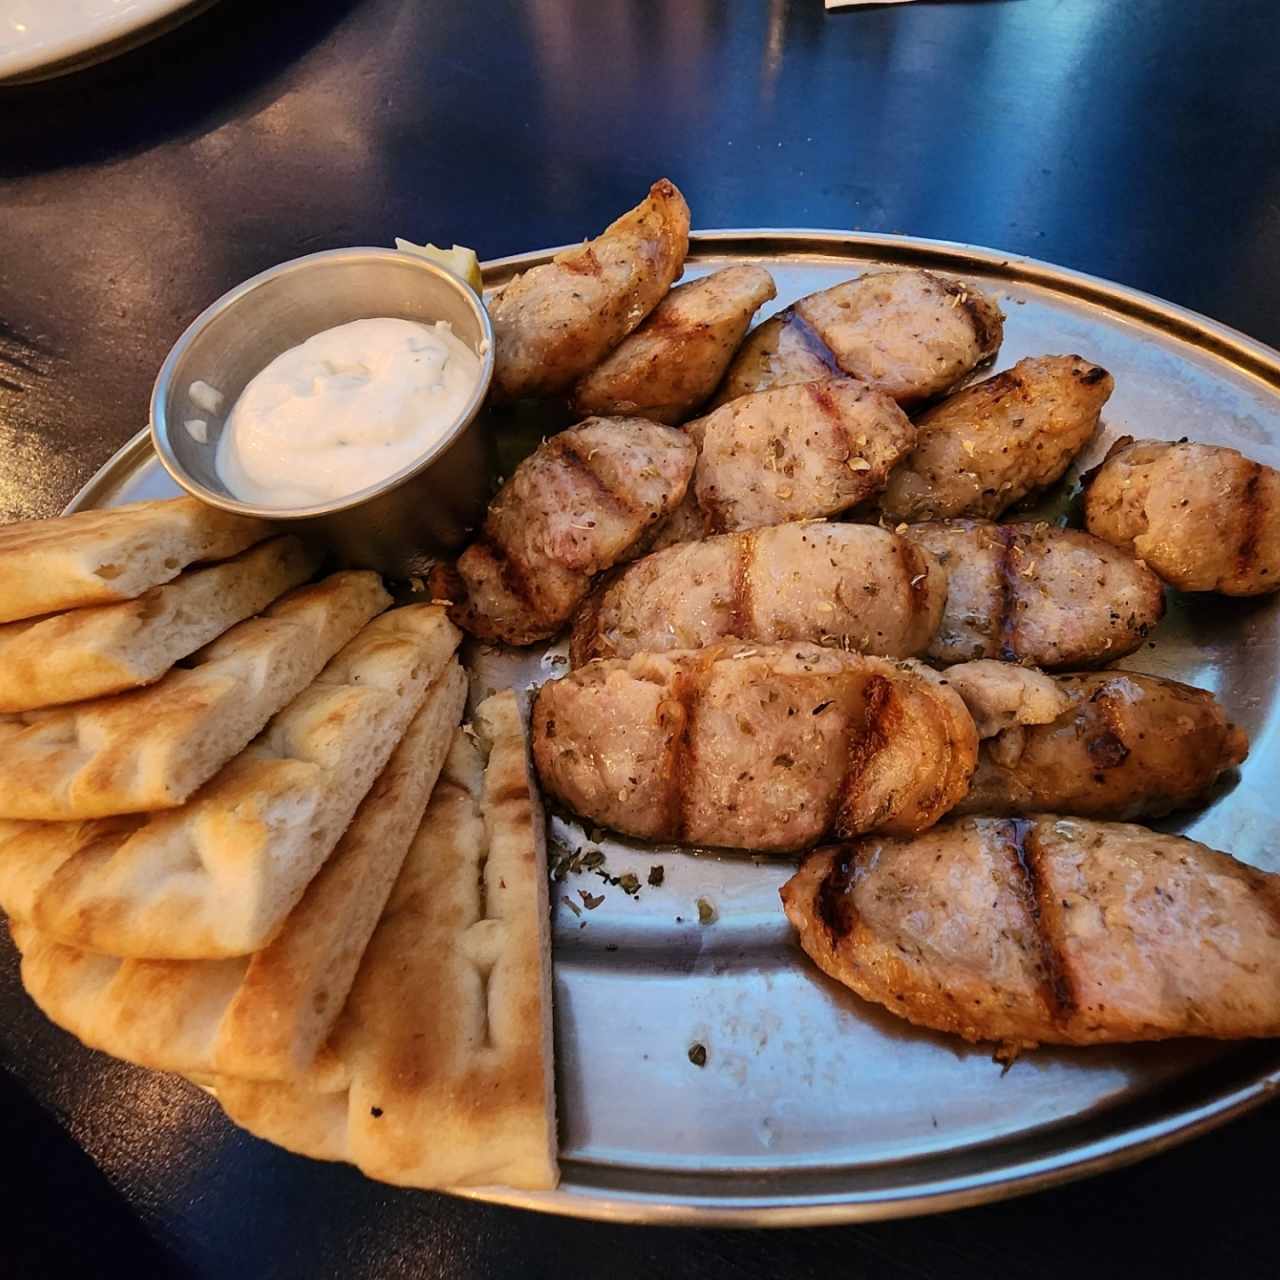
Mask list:
[[[379,484],[312,507],[259,507],[236,498],[214,460],[225,416],[271,360],[324,329],[390,316],[434,323],[480,357],[480,381],[439,443]],[[493,379],[493,328],[474,291],[424,259],[389,248],[340,248],[273,266],[198,315],[160,367],[151,438],[187,493],[224,511],[260,516],[328,545],[343,563],[407,577],[457,550],[489,498],[489,433],[476,421]],[[193,383],[221,396],[218,413],[192,399]],[[207,422],[207,440],[187,429]]]

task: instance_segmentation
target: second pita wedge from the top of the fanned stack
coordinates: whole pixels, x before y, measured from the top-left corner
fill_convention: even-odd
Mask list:
[[[179,658],[305,582],[317,564],[296,538],[273,538],[136,600],[8,622],[0,626],[0,712],[150,685]]]

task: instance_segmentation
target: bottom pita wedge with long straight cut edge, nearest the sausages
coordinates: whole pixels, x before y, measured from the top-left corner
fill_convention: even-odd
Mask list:
[[[547,852],[522,718],[509,691],[479,708],[483,781],[454,740],[326,1052],[293,1084],[219,1080],[237,1124],[404,1187],[556,1185]]]

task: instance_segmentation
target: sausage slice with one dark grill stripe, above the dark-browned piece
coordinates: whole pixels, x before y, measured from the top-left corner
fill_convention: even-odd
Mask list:
[[[899,531],[947,571],[937,662],[1100,666],[1133,653],[1165,612],[1151,570],[1075,529],[943,520]]]

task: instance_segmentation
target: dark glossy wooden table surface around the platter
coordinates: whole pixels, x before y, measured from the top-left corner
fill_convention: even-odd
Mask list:
[[[1029,253],[1280,346],[1274,0],[225,0],[0,88],[0,515],[54,515],[145,424],[187,321],[283,259],[483,257],[662,174],[698,227]],[[1088,1277],[1277,1271],[1280,1111],[1029,1199],[860,1228],[577,1224],[296,1160],[81,1048],[0,954],[0,1275]]]

